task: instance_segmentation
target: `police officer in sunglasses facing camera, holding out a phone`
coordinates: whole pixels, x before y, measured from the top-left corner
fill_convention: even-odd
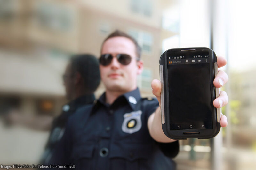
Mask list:
[[[225,65],[225,59],[219,57],[218,65]],[[161,83],[153,80],[151,84],[158,100],[141,98],[136,75],[142,69],[140,48],[132,37],[115,31],[106,38],[100,56],[100,77],[106,92],[69,119],[52,164],[96,170],[175,169],[171,158],[177,155],[179,144],[162,131]],[[216,78],[227,81],[224,72]],[[217,81],[214,85],[223,84]],[[222,107],[227,100],[221,92],[214,106]],[[223,115],[221,125],[227,125]]]

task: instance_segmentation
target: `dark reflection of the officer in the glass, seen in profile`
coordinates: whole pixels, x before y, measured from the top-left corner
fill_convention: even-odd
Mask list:
[[[45,147],[41,163],[48,164],[52,151],[61,139],[65,124],[77,108],[91,104],[95,100],[94,91],[100,84],[99,62],[89,54],[73,55],[63,75],[66,97],[70,101],[62,107],[62,113],[53,120],[50,137]]]

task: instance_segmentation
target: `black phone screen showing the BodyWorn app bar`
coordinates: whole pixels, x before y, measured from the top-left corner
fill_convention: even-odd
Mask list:
[[[209,50],[167,54],[170,130],[213,129]]]

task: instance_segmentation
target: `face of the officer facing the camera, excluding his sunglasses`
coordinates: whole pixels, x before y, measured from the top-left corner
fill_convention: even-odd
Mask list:
[[[143,62],[136,60],[134,43],[126,37],[113,37],[104,42],[101,54],[111,54],[113,59],[107,66],[100,64],[100,77],[108,91],[129,92],[137,87],[137,75],[143,70]],[[122,65],[117,54],[128,54],[131,63]]]

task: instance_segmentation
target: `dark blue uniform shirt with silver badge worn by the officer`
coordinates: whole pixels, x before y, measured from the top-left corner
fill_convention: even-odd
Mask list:
[[[179,152],[178,141],[157,143],[148,131],[148,118],[157,107],[156,98],[141,98],[138,88],[111,105],[104,93],[70,117],[50,164],[86,170],[175,169],[171,157]]]

